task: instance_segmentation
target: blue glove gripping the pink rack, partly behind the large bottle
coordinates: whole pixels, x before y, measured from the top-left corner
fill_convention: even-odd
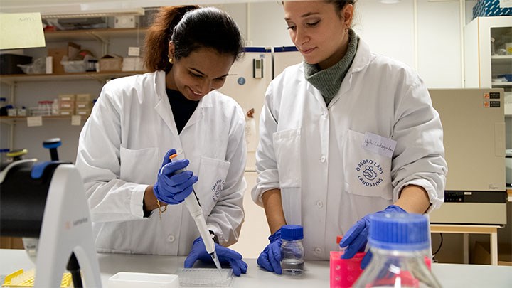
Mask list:
[[[386,207],[382,211],[378,211],[375,214],[393,214],[393,213],[407,213],[407,211],[403,210],[399,206],[396,205],[390,205]],[[373,215],[375,215],[373,214]],[[343,253],[343,256],[341,256],[342,259],[350,259],[358,251],[364,251],[366,247],[366,242],[368,242],[368,232],[370,228],[370,215],[368,214],[364,216],[361,220],[358,220],[356,224],[354,224],[350,229],[348,229],[347,233],[343,235],[343,239],[340,242],[340,247],[346,247],[345,252]],[[361,269],[365,269],[368,263],[370,262],[372,257],[372,253],[370,250],[366,252],[365,257],[363,257],[363,260],[361,261]]]

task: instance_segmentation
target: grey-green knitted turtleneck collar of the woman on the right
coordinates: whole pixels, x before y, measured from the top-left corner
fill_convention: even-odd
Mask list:
[[[359,36],[352,29],[348,29],[348,36],[348,49],[345,56],[332,67],[321,70],[318,65],[311,65],[304,61],[304,76],[311,85],[321,92],[326,105],[329,105],[329,102],[338,93],[341,82],[356,57]]]

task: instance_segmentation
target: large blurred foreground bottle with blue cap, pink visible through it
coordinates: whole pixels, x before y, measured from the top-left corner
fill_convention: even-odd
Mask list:
[[[372,260],[353,287],[441,287],[425,264],[430,254],[427,216],[372,215],[368,243]]]

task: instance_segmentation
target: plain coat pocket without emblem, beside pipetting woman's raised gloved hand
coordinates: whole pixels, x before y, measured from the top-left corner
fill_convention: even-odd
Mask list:
[[[158,159],[161,161],[163,156],[159,156],[156,148],[132,150],[121,146],[119,158],[121,180],[151,185],[156,181],[156,174],[161,167]]]

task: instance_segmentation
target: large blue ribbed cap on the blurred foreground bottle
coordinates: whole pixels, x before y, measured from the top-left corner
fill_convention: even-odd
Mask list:
[[[417,251],[430,247],[429,221],[421,214],[370,215],[371,247],[384,250]]]

